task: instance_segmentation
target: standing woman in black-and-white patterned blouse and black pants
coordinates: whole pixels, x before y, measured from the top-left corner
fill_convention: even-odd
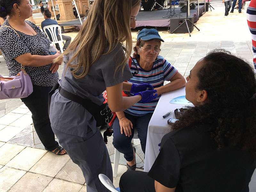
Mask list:
[[[48,93],[59,80],[58,63],[52,60],[60,55],[56,49],[55,55],[50,55],[50,40],[28,19],[32,16],[32,5],[29,0],[0,0],[0,17],[6,17],[0,29],[0,50],[3,53],[9,76],[20,72],[20,64],[31,78],[33,93],[21,99],[32,113],[36,133],[46,150],[57,155],[67,154],[65,149],[55,141],[54,133],[48,116]]]

